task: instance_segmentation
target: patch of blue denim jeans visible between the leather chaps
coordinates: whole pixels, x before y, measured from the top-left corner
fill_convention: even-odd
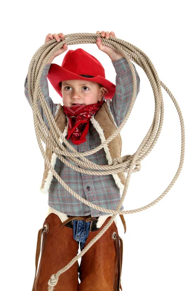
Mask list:
[[[73,237],[78,242],[80,242],[80,249],[84,248],[84,243],[90,232],[91,221],[86,222],[84,220],[73,220]]]

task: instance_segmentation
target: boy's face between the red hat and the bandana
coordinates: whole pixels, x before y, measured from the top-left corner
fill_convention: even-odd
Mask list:
[[[62,81],[61,93],[65,107],[75,107],[79,104],[89,105],[102,100],[108,90],[98,83],[82,80]]]

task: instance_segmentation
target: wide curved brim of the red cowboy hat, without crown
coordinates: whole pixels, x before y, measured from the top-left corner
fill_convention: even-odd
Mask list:
[[[105,99],[112,99],[115,94],[116,86],[112,82],[106,80],[105,78],[101,76],[97,76],[94,78],[82,77],[80,75],[77,75],[75,73],[72,73],[64,69],[63,67],[57,64],[50,65],[49,73],[47,77],[51,85],[54,87],[54,89],[57,91],[57,93],[61,97],[63,96],[61,93],[61,86],[59,84],[61,81],[65,81],[65,80],[85,80],[85,81],[92,81],[92,82],[99,83],[108,90],[108,93],[105,95]]]

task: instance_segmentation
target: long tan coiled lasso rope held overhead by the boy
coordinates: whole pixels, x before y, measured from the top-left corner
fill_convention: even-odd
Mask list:
[[[146,54],[137,47],[133,46],[132,44],[119,39],[110,36],[109,39],[101,38],[102,44],[116,49],[117,51],[121,52],[123,56],[126,58],[126,60],[129,63],[129,67],[132,72],[132,78],[133,78],[133,94],[132,94],[132,100],[131,104],[129,106],[129,111],[126,114],[122,124],[116,131],[113,133],[112,136],[110,136],[106,141],[104,141],[101,145],[97,146],[95,149],[90,150],[88,152],[79,153],[76,149],[74,149],[68,141],[63,136],[63,133],[60,131],[60,129],[56,126],[56,122],[54,120],[54,117],[52,116],[52,113],[44,99],[44,96],[42,94],[41,88],[40,88],[40,78],[43,72],[43,69],[45,65],[47,64],[49,58],[54,54],[55,51],[62,48],[63,45],[66,43],[67,46],[69,45],[76,45],[76,44],[96,44],[97,36],[100,37],[100,34],[97,33],[72,33],[67,34],[63,39],[61,39],[60,42],[57,42],[55,39],[50,40],[49,42],[45,43],[43,46],[41,46],[36,53],[32,57],[32,61],[29,65],[28,70],[28,89],[29,89],[29,96],[30,101],[32,104],[32,111],[33,111],[33,120],[34,120],[34,128],[35,133],[38,141],[38,145],[40,147],[41,153],[45,159],[45,162],[49,169],[51,170],[54,177],[63,185],[63,187],[69,191],[74,197],[76,197],[78,200],[80,200],[82,203],[88,205],[89,207],[92,207],[94,209],[111,213],[113,216],[111,217],[110,221],[107,223],[106,226],[103,227],[103,229],[97,234],[97,236],[88,243],[88,245],[81,251],[81,253],[76,256],[74,259],[72,259],[63,269],[58,271],[56,274],[51,275],[49,282],[48,282],[48,290],[53,291],[54,286],[57,284],[59,276],[67,271],[79,258],[81,258],[87,250],[103,235],[103,233],[111,226],[113,223],[114,217],[117,214],[130,214],[135,212],[140,212],[143,210],[146,210],[150,208],[151,206],[158,203],[172,188],[175,181],[177,180],[180,171],[183,166],[184,161],[184,148],[185,148],[185,131],[184,131],[184,122],[182,118],[182,114],[180,111],[180,108],[178,106],[178,103],[175,99],[175,97],[172,95],[170,90],[164,85],[164,83],[159,79],[158,74],[155,70],[154,65],[150,61],[150,59],[146,56]],[[131,110],[133,108],[133,104],[135,101],[136,93],[137,93],[137,79],[136,79],[136,73],[135,69],[132,66],[131,61],[135,62],[137,65],[141,66],[145,73],[147,78],[149,79],[152,90],[154,93],[155,98],[155,112],[154,112],[154,118],[152,125],[150,129],[148,130],[144,140],[138,147],[137,151],[133,155],[126,155],[122,157],[121,159],[113,159],[113,163],[111,165],[98,165],[93,162],[90,162],[88,159],[85,158],[85,156],[89,156],[91,154],[96,153],[98,150],[100,150],[102,147],[106,146],[109,142],[113,140],[113,138],[121,131],[121,129],[126,124],[129,115],[131,113]],[[162,130],[162,124],[163,124],[163,116],[164,116],[164,107],[163,107],[163,98],[162,98],[162,90],[161,86],[164,88],[164,90],[168,93],[168,95],[171,97],[173,103],[176,106],[178,116],[180,119],[180,127],[181,127],[181,155],[180,155],[180,162],[178,166],[177,173],[175,174],[173,180],[168,185],[168,187],[165,189],[165,191],[153,202],[149,203],[148,205],[133,209],[133,210],[120,210],[123,201],[125,199],[125,196],[127,194],[127,189],[129,186],[129,179],[132,172],[139,171],[140,169],[140,162],[148,155],[148,153],[152,150],[152,148],[155,146],[160,132]],[[47,128],[45,122],[43,121],[43,118],[39,112],[37,99],[39,100],[42,110],[47,118],[49,128]],[[57,134],[59,137],[57,137]],[[63,146],[60,139],[65,143],[66,146],[72,151],[70,153],[65,146]],[[57,155],[57,157],[64,162],[67,166],[74,169],[75,171],[79,171],[81,173],[89,174],[89,175],[109,175],[109,174],[117,174],[119,172],[127,172],[127,178],[126,178],[126,184],[123,190],[123,194],[121,196],[120,202],[117,206],[116,210],[110,210],[106,208],[99,207],[84,198],[82,198],[80,195],[78,195],[76,192],[74,192],[71,188],[68,187],[68,185],[59,177],[59,175],[56,173],[54,168],[51,166],[45,150],[43,148],[41,140],[45,143],[46,146],[48,146],[52,151]],[[74,166],[71,163],[69,163],[67,160],[64,159],[64,157],[68,157],[68,159],[75,164],[87,168],[81,169],[81,167]],[[81,160],[79,160],[79,158]],[[134,167],[135,166],[135,167]],[[92,170],[92,171],[91,171]],[[95,170],[95,171],[94,171]]]

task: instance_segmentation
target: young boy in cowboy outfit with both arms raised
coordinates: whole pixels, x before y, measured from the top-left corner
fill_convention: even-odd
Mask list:
[[[106,38],[110,35],[116,37],[114,32],[102,31],[100,35]],[[60,37],[64,38],[64,34],[49,33],[45,42],[53,38],[60,41]],[[98,60],[83,49],[69,50],[62,66],[51,64],[56,56],[67,49],[66,44],[50,58],[40,80],[42,93],[57,126],[78,152],[96,148],[113,134],[128,113],[132,97],[133,81],[127,60],[120,52],[102,45],[100,38],[97,38],[97,47],[107,53],[112,60],[116,71],[116,86],[105,79],[104,68]],[[140,78],[137,71],[136,76],[138,95]],[[54,104],[49,97],[47,77],[63,98],[63,106]],[[27,77],[24,86],[25,96],[30,103]],[[39,101],[37,102],[49,129],[45,114]],[[64,143],[63,145],[65,146]],[[98,206],[116,210],[124,189],[124,173],[102,176],[83,174],[65,165],[49,148],[46,149],[46,153],[58,175],[77,194]],[[119,157],[120,154],[121,138],[118,134],[108,146],[86,158],[96,164],[105,165],[112,163],[112,159]],[[69,160],[68,162],[75,165]],[[43,224],[45,230],[42,253],[32,291],[47,291],[50,276],[65,267],[78,254],[79,242],[82,250],[112,216],[90,208],[76,199],[65,190],[46,165],[41,191],[49,194],[49,211]],[[122,206],[120,210],[123,209]],[[84,254],[80,266],[77,261],[60,276],[57,291],[120,290],[114,232],[118,233],[116,219]]]

